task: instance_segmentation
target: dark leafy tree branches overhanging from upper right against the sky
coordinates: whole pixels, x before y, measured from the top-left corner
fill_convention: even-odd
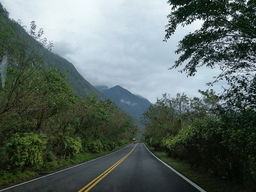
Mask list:
[[[172,12],[167,16],[164,41],[177,29],[202,20],[200,29],[186,35],[175,53],[180,57],[170,68],[183,63],[180,72],[194,76],[198,67],[220,68],[215,77],[226,79],[229,88],[221,99],[229,107],[256,108],[256,3],[254,0],[169,0]]]

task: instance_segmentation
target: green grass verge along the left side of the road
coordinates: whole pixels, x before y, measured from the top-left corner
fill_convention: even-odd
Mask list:
[[[113,153],[114,151],[119,150],[125,146],[126,145],[118,146],[112,151],[103,151],[99,154],[78,154],[75,157],[69,159],[69,161],[65,159],[60,159],[59,161],[47,162],[43,164],[39,172],[35,172],[32,170],[26,170],[24,172],[21,172],[20,170],[12,170],[9,172],[0,170],[0,189],[17,185],[18,183],[35,179],[37,177],[41,177],[42,175],[53,173],[55,171],[65,169],[67,167],[74,166],[79,163],[90,161],[91,159],[98,158],[109,153]]]

